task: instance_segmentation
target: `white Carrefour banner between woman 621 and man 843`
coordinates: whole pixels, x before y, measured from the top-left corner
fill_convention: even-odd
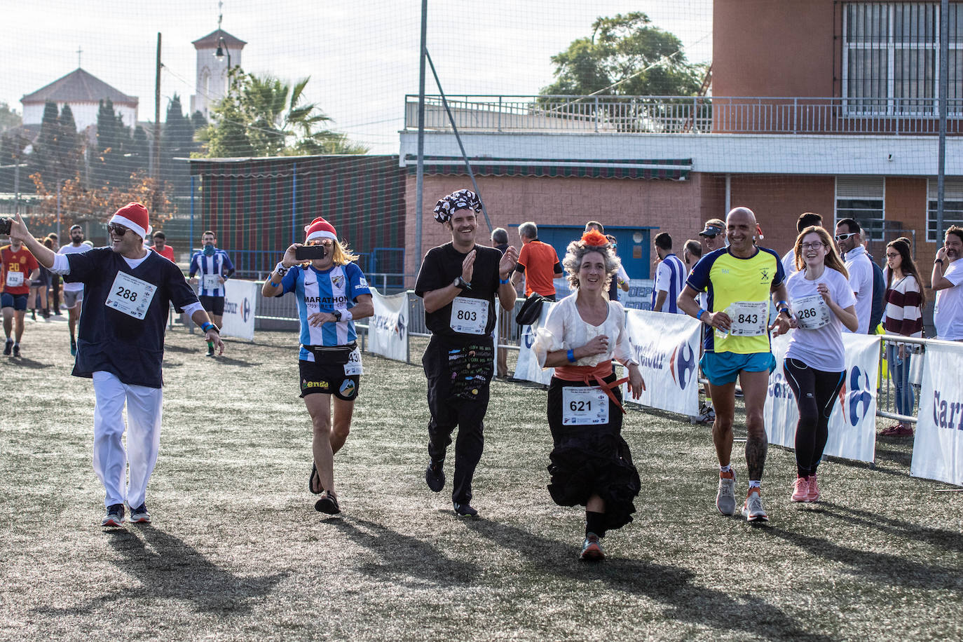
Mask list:
[[[645,380],[645,390],[637,400],[623,385],[622,397],[651,408],[698,415],[701,325],[689,315],[628,310],[629,343]]]

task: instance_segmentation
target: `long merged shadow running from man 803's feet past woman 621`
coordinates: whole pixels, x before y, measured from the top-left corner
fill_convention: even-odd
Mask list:
[[[512,551],[529,558],[543,573],[583,583],[586,593],[596,593],[597,582],[602,581],[612,589],[644,595],[663,603],[664,616],[679,622],[742,631],[754,638],[820,642],[832,639],[802,629],[780,608],[757,597],[741,594],[738,586],[732,586],[730,593],[693,584],[693,574],[688,569],[612,556],[601,564],[581,562],[578,560],[579,547],[572,544],[488,520],[465,524],[496,544],[510,542]],[[620,533],[615,535],[619,536]],[[766,623],[765,629],[760,628],[760,622]]]

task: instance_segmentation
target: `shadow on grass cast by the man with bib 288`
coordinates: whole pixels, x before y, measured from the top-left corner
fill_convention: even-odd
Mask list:
[[[120,559],[113,560],[120,573],[133,575],[143,586],[98,596],[68,608],[38,609],[39,612],[80,615],[115,601],[144,600],[162,604],[182,600],[193,603],[199,611],[243,615],[254,603],[263,601],[287,575],[239,578],[183,540],[152,526],[117,528],[108,534],[111,547],[121,555]]]

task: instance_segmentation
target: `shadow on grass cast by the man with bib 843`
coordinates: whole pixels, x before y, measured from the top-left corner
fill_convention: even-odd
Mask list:
[[[832,515],[830,511],[823,512]],[[775,526],[768,528],[767,532],[816,557],[838,562],[846,566],[849,573],[872,581],[900,588],[922,589],[947,589],[951,584],[963,583],[957,568],[926,564],[888,552],[860,551],[840,546],[824,537],[804,535]]]

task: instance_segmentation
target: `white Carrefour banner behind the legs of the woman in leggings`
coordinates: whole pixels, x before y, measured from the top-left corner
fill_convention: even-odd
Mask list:
[[[776,369],[769,374],[764,418],[769,443],[795,448],[799,409],[783,373],[790,335],[772,340]],[[876,381],[879,372],[879,337],[843,335],[846,380],[829,416],[829,441],[825,453],[834,457],[872,462],[876,446]]]

